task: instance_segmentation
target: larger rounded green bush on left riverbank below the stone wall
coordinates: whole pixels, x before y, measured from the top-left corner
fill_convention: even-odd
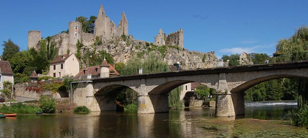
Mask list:
[[[52,114],[56,111],[55,99],[48,99],[46,96],[41,96],[39,103],[43,113]]]

